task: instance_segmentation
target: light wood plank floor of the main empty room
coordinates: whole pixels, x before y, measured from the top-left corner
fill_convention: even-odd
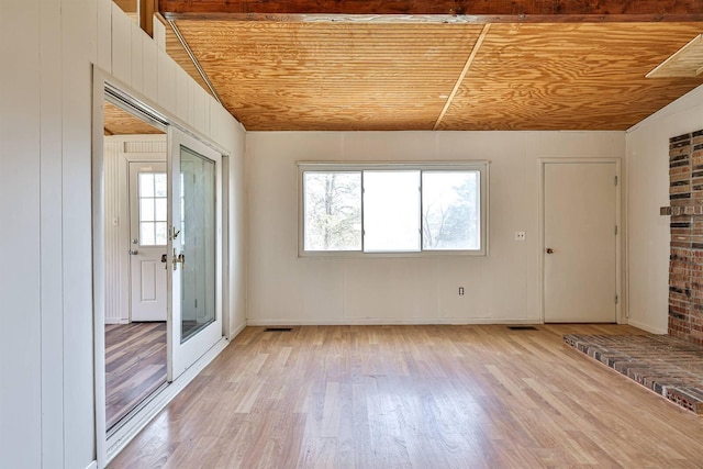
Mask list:
[[[561,338],[640,331],[538,328],[246,328],[110,467],[703,467],[703,422]]]

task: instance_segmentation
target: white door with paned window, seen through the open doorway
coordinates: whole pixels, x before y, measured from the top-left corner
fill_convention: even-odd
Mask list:
[[[167,172],[163,161],[130,163],[130,319],[166,321]]]

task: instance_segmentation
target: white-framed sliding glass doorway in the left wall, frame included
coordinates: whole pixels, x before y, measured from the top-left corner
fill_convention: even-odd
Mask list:
[[[223,291],[228,189],[227,158],[216,145],[138,94],[121,90],[101,70],[96,68],[93,74],[93,96],[98,98],[93,101],[92,132],[96,445],[98,466],[104,467],[227,344]],[[157,154],[160,156],[155,158]],[[127,192],[124,188],[129,188],[133,161],[146,166],[132,170],[137,180],[132,186],[137,190],[130,202],[129,196],[119,192]],[[158,182],[158,194],[156,190],[157,177],[163,179],[163,167],[156,165],[164,161],[166,222],[163,181]],[[138,188],[141,175],[143,191]],[[130,204],[137,208],[131,212],[134,222]],[[136,269],[147,276],[134,290],[143,302],[157,301],[163,293],[157,273],[164,269],[165,322],[133,321],[132,259],[138,259],[138,250],[145,247],[157,247],[160,257],[145,260],[150,266]],[[120,334],[111,334],[114,332]],[[146,347],[150,357],[145,359],[145,348],[127,353],[127,345]],[[136,362],[130,364],[135,357]],[[133,373],[133,379],[142,379],[140,384],[125,384],[130,379],[126,372],[138,366],[142,371]],[[143,393],[113,398],[111,390]],[[127,405],[112,406],[119,402]],[[109,412],[115,409],[120,411],[111,417]]]

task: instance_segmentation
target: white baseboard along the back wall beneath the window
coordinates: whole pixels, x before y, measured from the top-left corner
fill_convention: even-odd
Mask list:
[[[433,319],[373,319],[347,317],[341,320],[247,320],[247,326],[346,326],[346,325],[487,325],[487,324],[539,324],[538,317],[433,317]]]

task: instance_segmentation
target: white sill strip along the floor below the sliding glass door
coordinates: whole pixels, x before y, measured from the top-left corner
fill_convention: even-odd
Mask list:
[[[147,404],[142,407],[141,412],[131,421],[126,422],[122,428],[116,431],[114,435],[108,438],[105,447],[108,448],[108,465],[125,446],[142,431],[148,423],[172,401],[180,391],[182,391],[190,381],[192,381],[200,371],[203,370],[225,347],[230,345],[230,340],[222,337],[210,350],[205,353],[198,361],[157,393]]]

